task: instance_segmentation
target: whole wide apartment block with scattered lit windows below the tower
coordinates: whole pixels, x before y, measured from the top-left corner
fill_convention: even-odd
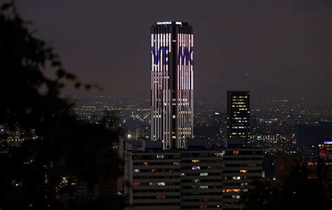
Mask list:
[[[207,148],[125,151],[127,209],[243,209],[249,183],[262,177],[262,150]]]

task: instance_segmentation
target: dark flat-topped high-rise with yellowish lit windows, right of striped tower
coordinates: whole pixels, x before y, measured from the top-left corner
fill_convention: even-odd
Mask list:
[[[227,91],[227,137],[250,135],[249,91]]]

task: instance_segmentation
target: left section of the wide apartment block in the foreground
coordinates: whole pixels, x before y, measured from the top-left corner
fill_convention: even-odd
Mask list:
[[[125,193],[134,209],[180,209],[180,153],[127,152],[126,158],[132,187]]]

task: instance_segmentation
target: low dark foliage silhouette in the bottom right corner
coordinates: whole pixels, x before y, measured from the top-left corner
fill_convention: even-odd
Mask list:
[[[252,189],[243,195],[242,203],[250,210],[331,209],[332,186],[327,170],[324,161],[318,160],[315,176],[310,177],[307,167],[296,163],[282,180],[251,183]]]

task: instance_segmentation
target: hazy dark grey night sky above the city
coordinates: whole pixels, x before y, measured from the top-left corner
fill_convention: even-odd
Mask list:
[[[66,94],[149,98],[151,24],[177,20],[194,28],[195,100],[225,101],[227,90],[245,89],[254,100],[332,103],[332,1],[17,3],[67,70],[104,87]]]

